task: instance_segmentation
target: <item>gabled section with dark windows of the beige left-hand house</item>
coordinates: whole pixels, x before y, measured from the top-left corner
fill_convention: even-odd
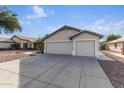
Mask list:
[[[36,38],[27,37],[27,36],[19,36],[14,35],[11,38],[13,41],[19,44],[19,48],[21,49],[33,49],[36,48],[34,42],[36,41]]]

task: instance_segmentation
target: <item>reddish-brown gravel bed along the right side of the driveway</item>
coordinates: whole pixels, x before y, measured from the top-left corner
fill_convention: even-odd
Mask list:
[[[110,56],[110,54],[107,56]],[[116,59],[116,61],[98,60],[98,62],[105,71],[112,85],[115,88],[124,88],[124,63],[117,61],[118,57],[110,57]]]

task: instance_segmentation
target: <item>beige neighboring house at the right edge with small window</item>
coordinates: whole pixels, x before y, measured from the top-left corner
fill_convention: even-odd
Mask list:
[[[122,52],[123,43],[124,43],[124,38],[119,38],[119,39],[106,43],[106,46],[111,51]]]

